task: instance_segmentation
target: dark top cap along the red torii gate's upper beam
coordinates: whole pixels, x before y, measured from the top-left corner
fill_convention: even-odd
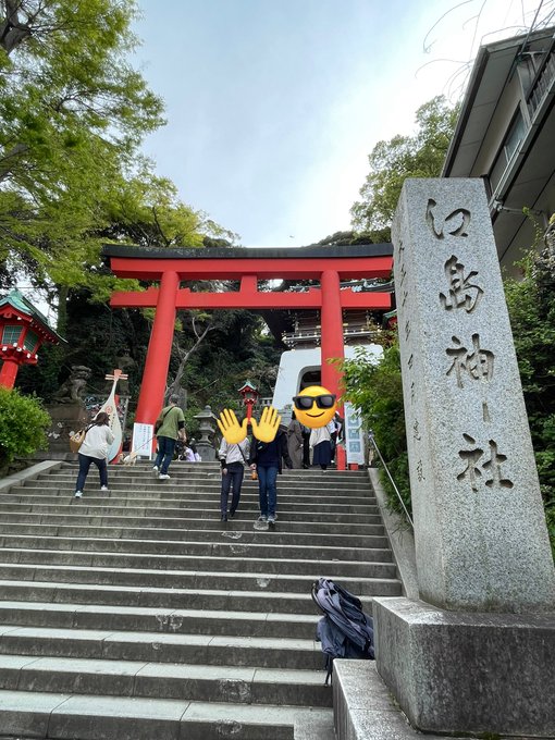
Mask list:
[[[103,257],[131,257],[133,259],[332,259],[356,257],[390,257],[393,245],[351,244],[312,245],[309,247],[138,247],[135,245],[104,244]]]

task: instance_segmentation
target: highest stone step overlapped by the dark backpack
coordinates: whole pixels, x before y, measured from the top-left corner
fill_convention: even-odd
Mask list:
[[[1,555],[1,552],[0,552]],[[340,566],[340,564],[337,564]],[[318,567],[318,564],[317,566]],[[337,574],[340,567],[337,567]],[[292,593],[310,593],[320,570],[303,575],[283,572],[219,572],[197,570],[153,570],[147,568],[100,568],[63,565],[26,565],[18,563],[0,563],[2,580],[39,580],[70,583],[98,583],[110,585],[140,585],[143,588],[186,588],[208,590],[257,591],[266,593],[282,591]],[[333,574],[330,575],[332,577]],[[357,576],[340,577],[342,585],[351,593],[367,596],[399,595],[399,582],[395,578],[362,578]]]

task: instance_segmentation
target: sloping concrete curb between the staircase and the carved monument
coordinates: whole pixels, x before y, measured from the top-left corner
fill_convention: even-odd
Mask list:
[[[399,578],[403,583],[403,592],[407,599],[418,601],[418,574],[416,565],[415,535],[410,525],[395,511],[387,507],[387,498],[380,481],[378,468],[368,468],[370,482],[375,492],[383,525],[393,550],[393,557],[397,565]]]

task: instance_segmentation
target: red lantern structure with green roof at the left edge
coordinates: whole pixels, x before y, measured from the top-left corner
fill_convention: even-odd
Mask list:
[[[0,298],[0,385],[12,388],[22,365],[36,365],[42,343],[65,342],[18,291]]]

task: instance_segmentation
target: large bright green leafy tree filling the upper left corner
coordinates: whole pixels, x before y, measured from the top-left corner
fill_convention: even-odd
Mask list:
[[[108,220],[99,203],[163,123],[161,100],[127,62],[136,12],[134,0],[0,2],[4,285],[16,270],[86,284]]]

